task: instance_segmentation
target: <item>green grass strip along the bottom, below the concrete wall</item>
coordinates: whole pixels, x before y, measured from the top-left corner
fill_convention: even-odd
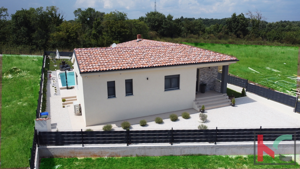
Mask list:
[[[264,163],[284,163],[266,155]],[[258,162],[257,162],[258,163]],[[259,162],[260,163],[260,162]],[[43,158],[40,169],[100,169],[100,168],[299,168],[297,165],[254,165],[248,156],[154,156],[154,157],[98,157]]]

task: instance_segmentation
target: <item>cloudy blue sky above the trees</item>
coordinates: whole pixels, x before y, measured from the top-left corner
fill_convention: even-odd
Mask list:
[[[0,7],[11,15],[17,10],[57,6],[66,20],[74,19],[77,8],[94,8],[109,13],[125,12],[130,19],[138,19],[154,11],[154,0],[0,0]],[[229,18],[232,13],[261,11],[267,22],[300,21],[300,0],[156,0],[156,10],[174,18]],[[246,15],[245,15],[246,16]],[[247,16],[246,16],[247,17]]]

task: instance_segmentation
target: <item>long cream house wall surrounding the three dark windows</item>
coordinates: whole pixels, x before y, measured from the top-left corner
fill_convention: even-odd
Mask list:
[[[114,71],[83,77],[83,88],[88,89],[84,90],[86,125],[192,108],[196,69],[197,67],[173,67]],[[164,91],[165,76],[175,74],[180,74],[180,89]],[[133,95],[125,96],[125,79],[133,79]],[[115,98],[108,98],[108,81],[115,81]]]

